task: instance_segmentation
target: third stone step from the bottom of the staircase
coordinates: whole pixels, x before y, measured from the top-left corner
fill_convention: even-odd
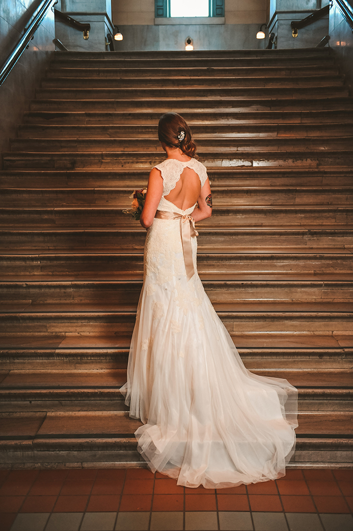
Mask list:
[[[121,309],[118,311],[121,313]],[[133,312],[130,313],[130,317],[133,316]],[[258,314],[261,323],[261,314]],[[222,312],[219,315],[222,317]],[[134,324],[133,320],[131,322]],[[245,366],[251,371],[352,369],[353,348],[349,346],[352,345],[352,331],[259,332],[256,329],[231,331],[231,335]],[[108,332],[23,332],[8,333],[1,338],[0,366],[3,372],[126,370],[131,332],[125,336],[122,332],[118,335]]]

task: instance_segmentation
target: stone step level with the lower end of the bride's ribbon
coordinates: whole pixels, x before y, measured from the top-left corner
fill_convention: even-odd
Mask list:
[[[5,251],[5,250],[4,250]],[[33,250],[34,251],[34,250]],[[143,274],[143,253],[110,252],[90,253],[38,253],[1,254],[0,275],[12,278],[21,275],[48,279],[89,277],[136,278]],[[6,251],[5,251],[6,252]],[[215,275],[326,275],[353,271],[353,253],[341,247],[286,249],[272,247],[267,250],[234,250],[225,253],[213,249],[200,249],[197,258],[201,279]]]

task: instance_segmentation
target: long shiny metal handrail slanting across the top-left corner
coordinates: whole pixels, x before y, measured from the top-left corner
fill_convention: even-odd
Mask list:
[[[49,9],[56,4],[57,0],[43,0],[38,7],[36,15],[34,15],[32,21],[27,28],[24,28],[23,35],[17,41],[17,44],[8,55],[6,61],[2,64],[0,69],[0,87],[10,74],[12,68],[15,66],[24,50],[27,48],[29,41],[32,39],[34,33],[36,33]]]

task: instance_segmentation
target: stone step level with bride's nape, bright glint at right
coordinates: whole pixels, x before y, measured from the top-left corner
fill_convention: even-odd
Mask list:
[[[271,151],[268,147],[262,145],[259,150],[251,147],[251,142],[248,142],[248,147],[233,147],[224,150],[199,151],[200,161],[208,168],[212,166],[225,167],[275,167],[277,169],[284,168],[298,168],[304,167],[317,168],[320,166],[328,166],[334,164],[337,166],[344,166],[351,168],[353,165],[353,152],[350,147],[343,148],[338,141],[337,145],[333,145],[332,150],[321,149],[322,139],[317,142],[316,149],[300,150],[289,149],[288,140],[287,145],[283,145],[284,149],[278,150],[279,140],[275,139],[277,145],[273,146],[275,151]],[[233,141],[234,142],[234,141]],[[292,142],[292,141],[289,141]],[[312,142],[312,139],[311,139]],[[348,142],[347,142],[348,144]],[[294,145],[294,148],[299,146]],[[84,147],[84,142],[82,144]],[[3,153],[4,169],[33,169],[38,170],[80,170],[86,168],[91,169],[107,169],[115,170],[118,168],[139,169],[145,168],[149,173],[151,167],[160,164],[163,160],[161,151],[63,151],[63,152],[23,152],[11,151]]]

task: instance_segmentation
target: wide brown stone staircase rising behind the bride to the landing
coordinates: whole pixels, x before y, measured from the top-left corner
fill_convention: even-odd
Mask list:
[[[211,181],[211,302],[299,389],[289,466],[351,466],[353,99],[314,48],[53,54],[0,173],[0,467],[144,466],[118,388],[146,233],[121,211],[169,110]]]

